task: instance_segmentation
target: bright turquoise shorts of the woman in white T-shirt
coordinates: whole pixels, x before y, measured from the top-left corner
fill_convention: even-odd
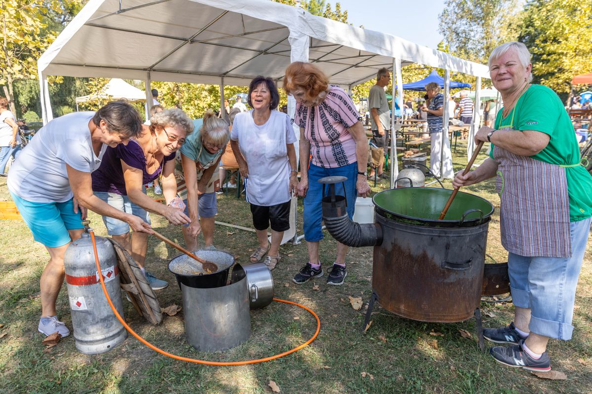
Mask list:
[[[33,239],[50,248],[70,241],[68,230],[84,228],[79,211],[74,213],[72,198],[65,202],[31,202],[10,193],[22,219],[33,232]]]

